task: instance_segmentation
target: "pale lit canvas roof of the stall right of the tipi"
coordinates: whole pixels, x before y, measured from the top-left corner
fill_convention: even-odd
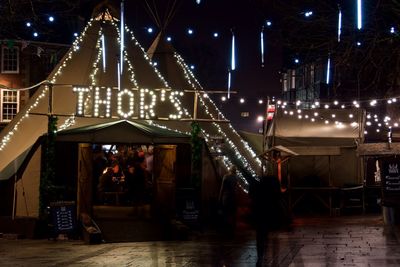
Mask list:
[[[299,112],[279,108],[268,137],[273,139],[274,145],[293,147],[293,150],[305,146],[354,147],[364,138],[364,118],[361,109],[303,109]]]

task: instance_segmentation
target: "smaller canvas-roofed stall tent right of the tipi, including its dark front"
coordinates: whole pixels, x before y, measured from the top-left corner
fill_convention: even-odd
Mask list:
[[[267,133],[269,147],[298,156],[287,170],[293,186],[338,186],[363,181],[357,147],[364,137],[361,109],[277,110]]]

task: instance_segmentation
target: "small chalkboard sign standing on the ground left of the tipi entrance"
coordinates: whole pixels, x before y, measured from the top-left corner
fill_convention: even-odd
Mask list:
[[[69,233],[75,229],[76,211],[74,201],[50,203],[51,214],[56,233]]]

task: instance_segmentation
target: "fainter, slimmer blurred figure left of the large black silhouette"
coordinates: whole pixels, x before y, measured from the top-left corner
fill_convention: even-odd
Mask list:
[[[238,178],[236,176],[236,167],[232,166],[222,179],[221,190],[219,193],[219,203],[221,205],[223,220],[222,229],[229,235],[233,235],[236,228],[237,188]]]

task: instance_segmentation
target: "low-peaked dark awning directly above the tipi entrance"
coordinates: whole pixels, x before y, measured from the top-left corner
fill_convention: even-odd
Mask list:
[[[119,120],[63,130],[57,141],[81,143],[177,144],[190,142],[190,135],[142,122]]]

